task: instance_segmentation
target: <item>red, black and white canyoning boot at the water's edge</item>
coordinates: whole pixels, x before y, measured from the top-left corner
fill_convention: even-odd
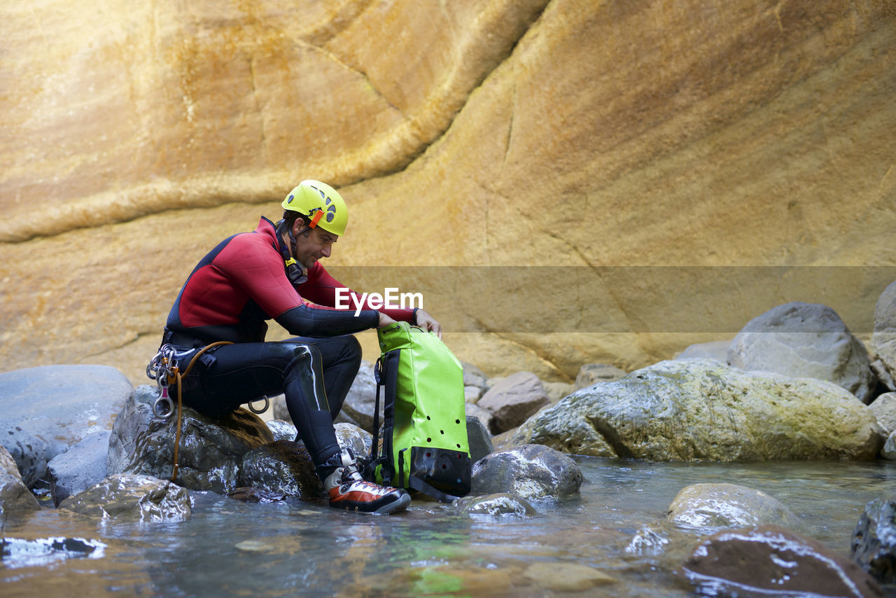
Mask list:
[[[351,454],[343,450],[341,456],[342,465],[323,481],[323,488],[330,496],[331,507],[378,515],[394,513],[408,507],[410,495],[407,492],[364,481]]]

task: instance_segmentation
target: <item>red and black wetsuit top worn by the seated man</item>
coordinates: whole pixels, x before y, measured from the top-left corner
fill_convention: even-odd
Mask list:
[[[166,328],[203,342],[262,342],[268,329],[265,320],[271,318],[296,336],[353,334],[379,323],[367,301],[355,315],[360,297],[354,291],[349,309],[334,308],[336,290],[346,287],[320,262],[308,269],[306,282],[293,285],[280,249],[274,224],[264,217],[253,232],[221,241],[186,279]],[[414,320],[411,309],[382,311],[395,320]]]

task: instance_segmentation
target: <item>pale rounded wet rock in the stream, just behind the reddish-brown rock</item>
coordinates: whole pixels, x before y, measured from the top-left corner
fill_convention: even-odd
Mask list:
[[[775,524],[794,527],[793,512],[760,490],[737,484],[694,484],[678,492],[669,505],[668,521],[688,528],[750,527]]]

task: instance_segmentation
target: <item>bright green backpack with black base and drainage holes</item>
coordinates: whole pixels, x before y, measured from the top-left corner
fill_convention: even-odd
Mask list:
[[[374,444],[365,477],[443,501],[468,494],[472,464],[461,362],[435,334],[407,322],[377,333],[382,353],[374,370]]]

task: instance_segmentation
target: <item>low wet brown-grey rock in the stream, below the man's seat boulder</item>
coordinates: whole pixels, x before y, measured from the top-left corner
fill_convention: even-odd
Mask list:
[[[184,521],[190,518],[185,488],[149,475],[116,474],[66,498],[59,508],[102,519]]]

